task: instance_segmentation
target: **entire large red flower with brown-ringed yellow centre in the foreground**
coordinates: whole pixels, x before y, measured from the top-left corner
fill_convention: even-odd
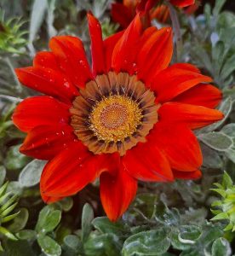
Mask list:
[[[14,124],[27,133],[21,153],[49,160],[43,201],[74,195],[100,177],[100,197],[116,220],[134,199],[137,181],[201,177],[202,154],[192,129],[223,114],[221,91],[190,64],[169,67],[169,27],[142,30],[140,15],[102,40],[88,15],[92,69],[83,43],[54,37],[33,67],[16,69],[20,81],[47,96],[20,102]]]

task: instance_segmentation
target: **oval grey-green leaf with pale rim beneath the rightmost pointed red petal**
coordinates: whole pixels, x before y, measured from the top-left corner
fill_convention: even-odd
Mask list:
[[[203,143],[217,151],[225,151],[231,148],[233,143],[232,139],[221,132],[209,132],[201,134],[198,137]]]

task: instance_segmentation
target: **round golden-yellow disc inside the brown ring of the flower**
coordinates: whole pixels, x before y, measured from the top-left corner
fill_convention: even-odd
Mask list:
[[[100,140],[117,143],[137,131],[141,118],[141,109],[135,101],[127,96],[109,96],[90,113],[90,129]]]

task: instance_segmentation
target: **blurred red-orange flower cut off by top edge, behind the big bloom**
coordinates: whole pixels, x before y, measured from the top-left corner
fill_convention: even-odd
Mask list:
[[[159,0],[123,0],[123,3],[112,3],[112,20],[121,27],[129,26],[134,19],[136,10],[146,13],[146,26],[150,26],[151,20],[165,23],[169,19],[169,8],[165,4],[158,4]],[[195,0],[170,0],[171,4],[183,8],[195,3]]]

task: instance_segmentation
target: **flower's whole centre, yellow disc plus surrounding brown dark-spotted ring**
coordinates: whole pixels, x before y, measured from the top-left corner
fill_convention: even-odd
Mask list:
[[[125,154],[137,143],[145,143],[158,121],[154,93],[135,75],[98,75],[79,92],[70,108],[71,125],[94,154]]]

